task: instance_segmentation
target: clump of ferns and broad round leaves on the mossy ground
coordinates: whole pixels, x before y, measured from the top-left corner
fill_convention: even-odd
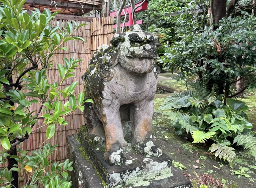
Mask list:
[[[214,143],[209,150],[233,166],[236,157],[234,144],[244,146],[256,157],[255,132],[248,122],[245,102],[229,98],[224,105],[213,91],[186,90],[167,97],[159,110],[168,115],[175,132],[179,135],[185,130],[190,133],[194,143]],[[233,143],[231,143],[233,142]],[[256,159],[256,158],[255,158]]]

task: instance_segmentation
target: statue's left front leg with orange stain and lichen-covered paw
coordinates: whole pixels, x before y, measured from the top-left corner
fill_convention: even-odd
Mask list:
[[[101,118],[106,136],[104,157],[110,165],[121,164],[126,159],[123,147],[127,146],[127,142],[124,140],[119,109],[120,105],[115,101],[112,101],[108,107],[102,107],[101,109]]]

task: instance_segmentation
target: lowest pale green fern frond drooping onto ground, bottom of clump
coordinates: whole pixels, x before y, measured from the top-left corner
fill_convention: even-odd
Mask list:
[[[209,151],[215,152],[215,158],[219,157],[220,159],[223,158],[224,161],[227,160],[229,162],[230,167],[233,167],[234,158],[236,157],[236,153],[234,152],[234,148],[222,144],[212,144],[209,148]]]

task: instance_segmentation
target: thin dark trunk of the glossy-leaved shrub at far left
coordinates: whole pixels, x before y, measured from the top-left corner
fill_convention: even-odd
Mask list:
[[[11,69],[11,67],[9,67],[9,69]],[[5,75],[8,75],[8,73],[9,72],[7,72]],[[8,78],[8,81],[10,83],[12,83],[12,77]],[[8,92],[9,90],[13,89],[12,86],[9,86],[9,85],[6,85],[6,84],[3,84],[3,85],[4,85],[5,92]],[[11,100],[9,101],[9,104],[11,106],[14,106],[14,102],[12,102]],[[12,140],[10,142],[11,142],[11,144],[13,144],[14,142],[16,142],[16,140]],[[8,161],[7,168],[8,168],[8,170],[10,170],[12,167],[14,167],[15,164],[18,165],[18,162],[14,158],[10,158],[12,155],[17,155],[16,145],[11,147],[10,151],[8,151],[7,153],[10,155],[9,157],[7,157],[7,161]],[[19,175],[18,175],[18,172],[12,171],[12,177],[14,178],[14,180],[11,182],[12,185],[14,185],[15,188],[18,188],[18,185],[19,185]]]

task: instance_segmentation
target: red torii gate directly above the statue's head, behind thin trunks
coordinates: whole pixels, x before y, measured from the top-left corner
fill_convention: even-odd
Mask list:
[[[136,2],[134,3],[135,7],[136,7],[137,5],[140,5],[142,2],[143,2],[143,0],[136,1]],[[144,10],[147,10],[147,4],[148,4],[148,1],[145,1],[140,7],[136,8],[135,13],[141,12],[141,11],[144,11]],[[127,9],[128,9],[128,11],[127,11]],[[126,22],[126,23],[124,24],[124,26],[129,26],[129,28],[130,28],[130,26],[133,25],[133,21],[132,21],[132,7],[131,7],[131,4],[129,5],[129,7],[127,7],[127,6],[124,7],[123,11],[121,12],[121,16],[125,16],[125,13],[124,13],[124,12],[125,12],[125,13],[127,12],[127,14],[129,15],[129,20],[128,20],[128,22]],[[114,17],[116,17],[116,12],[115,12],[114,10],[110,11],[110,16],[111,16],[111,15],[114,15]],[[142,24],[142,21],[143,21],[143,20],[137,20],[136,23],[137,23],[137,24]],[[115,24],[113,27],[116,28],[116,24]],[[121,27],[123,27],[123,24],[122,24],[122,23],[121,23]]]

